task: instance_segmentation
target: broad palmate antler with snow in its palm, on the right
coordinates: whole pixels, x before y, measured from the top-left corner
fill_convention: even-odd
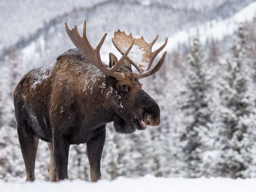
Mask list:
[[[129,44],[131,44],[131,42],[134,42],[133,49],[131,50],[131,52],[129,52],[127,58],[131,61],[131,64],[139,71],[139,78],[142,79],[157,72],[164,63],[164,59],[167,53],[166,51],[164,52],[164,55],[161,57],[158,63],[155,65],[155,67],[149,70],[156,55],[158,55],[158,53],[163,50],[167,44],[168,38],[166,38],[164,44],[161,47],[152,52],[152,46],[154,45],[157,38],[158,35],[151,43],[147,43],[143,36],[136,39],[132,37],[131,33],[130,35],[126,35],[125,32],[120,32],[120,30],[118,30],[117,32],[115,32],[114,38],[112,38],[112,42],[122,55],[125,54],[125,49],[127,49]]]

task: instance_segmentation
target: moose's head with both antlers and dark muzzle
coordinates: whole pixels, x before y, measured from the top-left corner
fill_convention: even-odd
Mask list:
[[[123,55],[118,61],[113,53],[109,54],[110,64],[107,68],[101,61],[100,49],[107,36],[103,36],[98,46],[94,49],[86,37],[86,20],[84,22],[83,37],[77,31],[77,25],[69,29],[65,23],[66,32],[83,56],[94,64],[101,72],[107,74],[113,80],[113,87],[117,97],[113,98],[114,107],[114,127],[119,133],[132,133],[136,129],[144,130],[147,125],[158,126],[160,124],[160,109],[154,99],[152,99],[143,89],[139,79],[145,78],[157,72],[164,63],[166,51],[159,62],[150,70],[150,67],[158,55],[167,44],[164,44],[152,52],[157,37],[147,43],[143,36],[133,38],[125,32],[118,30],[112,38],[114,46]],[[139,73],[133,73],[131,64]]]

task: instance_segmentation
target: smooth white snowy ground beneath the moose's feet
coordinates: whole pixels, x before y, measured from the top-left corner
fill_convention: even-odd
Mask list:
[[[59,183],[51,182],[29,182],[29,183],[5,183],[0,181],[1,191],[104,191],[104,192],[151,192],[151,191],[175,191],[175,192],[250,192],[255,191],[256,179],[229,179],[229,178],[156,178],[150,175],[131,179],[119,177],[113,181],[102,180],[91,183],[81,180],[63,181]]]

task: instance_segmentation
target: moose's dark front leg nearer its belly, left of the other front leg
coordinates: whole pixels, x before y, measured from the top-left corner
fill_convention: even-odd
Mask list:
[[[57,171],[57,182],[68,179],[68,152],[70,144],[62,135],[53,134],[53,159]]]

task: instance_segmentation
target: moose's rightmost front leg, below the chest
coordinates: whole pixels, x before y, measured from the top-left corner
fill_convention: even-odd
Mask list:
[[[90,163],[91,181],[101,179],[101,154],[106,138],[106,125],[97,128],[100,131],[87,143],[87,157]]]

